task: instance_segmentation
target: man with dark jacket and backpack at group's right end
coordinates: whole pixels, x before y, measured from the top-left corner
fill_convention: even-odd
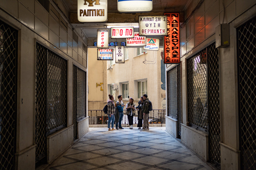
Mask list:
[[[143,105],[142,105],[142,113],[143,113],[143,128],[140,131],[147,131],[149,130],[149,123],[148,123],[148,115],[149,115],[149,100],[148,95],[143,95]]]

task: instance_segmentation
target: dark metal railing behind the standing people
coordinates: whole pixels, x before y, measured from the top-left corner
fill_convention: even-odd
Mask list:
[[[89,124],[108,124],[108,116],[102,110],[89,110]],[[149,112],[148,121],[150,124],[165,124],[165,109],[153,109]],[[124,110],[124,117],[122,124],[129,124]],[[135,110],[135,116],[133,116],[133,124],[138,124],[138,111]]]

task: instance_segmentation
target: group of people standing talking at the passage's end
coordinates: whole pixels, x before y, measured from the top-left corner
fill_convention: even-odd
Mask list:
[[[116,104],[114,104],[114,96],[108,95],[108,130],[118,130],[124,129],[122,127],[122,120],[124,116],[124,103],[122,95],[118,96],[118,100]],[[148,115],[149,115],[149,100],[148,95],[145,94],[141,96],[138,106],[135,107],[134,99],[130,98],[129,103],[126,104],[126,114],[128,117],[128,122],[130,125],[130,129],[133,129],[133,116],[135,115],[135,109],[138,110],[138,129],[140,131],[149,130],[149,123],[148,123]],[[142,127],[142,120],[143,120],[143,127]],[[114,129],[114,122],[116,121],[116,129]],[[110,128],[111,123],[111,128]],[[119,125],[118,125],[119,124]]]

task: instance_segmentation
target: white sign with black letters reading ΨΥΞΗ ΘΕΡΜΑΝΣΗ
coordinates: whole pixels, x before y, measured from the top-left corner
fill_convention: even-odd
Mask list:
[[[166,36],[167,35],[167,16],[139,16],[140,36]]]

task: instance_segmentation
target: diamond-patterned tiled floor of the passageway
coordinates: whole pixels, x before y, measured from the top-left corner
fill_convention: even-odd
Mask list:
[[[212,169],[165,131],[90,128],[46,169]]]

